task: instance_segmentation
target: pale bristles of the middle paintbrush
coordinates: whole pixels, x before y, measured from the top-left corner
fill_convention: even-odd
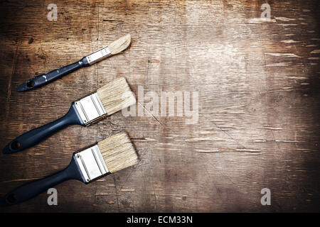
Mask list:
[[[114,114],[136,103],[134,93],[124,77],[114,79],[100,89],[97,89],[97,94],[103,107],[105,107],[105,111],[107,111],[107,115]]]

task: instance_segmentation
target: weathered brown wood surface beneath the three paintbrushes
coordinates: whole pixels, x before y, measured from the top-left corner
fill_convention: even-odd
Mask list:
[[[58,21],[48,21],[48,4]],[[127,131],[141,161],[64,182],[9,211],[319,211],[319,1],[1,1],[0,142],[53,121],[124,76],[137,95],[198,91],[198,123],[117,113],[0,155],[0,195],[56,172],[75,150]],[[131,33],[124,53],[31,92],[26,79]],[[145,100],[145,102],[147,102]],[[262,188],[271,206],[262,206]]]

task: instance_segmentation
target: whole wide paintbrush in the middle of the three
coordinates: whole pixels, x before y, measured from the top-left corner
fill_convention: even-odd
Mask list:
[[[6,145],[2,153],[16,153],[30,148],[69,125],[89,126],[91,123],[100,121],[105,116],[110,116],[135,103],[135,96],[126,79],[119,77],[97,89],[94,94],[74,101],[65,116],[18,136]]]

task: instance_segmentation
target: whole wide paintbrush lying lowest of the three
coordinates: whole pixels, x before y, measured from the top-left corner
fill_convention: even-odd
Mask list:
[[[136,164],[138,156],[127,133],[117,133],[90,148],[73,154],[64,170],[18,187],[0,199],[2,206],[18,204],[41,194],[68,179],[78,179],[88,184],[126,167]]]

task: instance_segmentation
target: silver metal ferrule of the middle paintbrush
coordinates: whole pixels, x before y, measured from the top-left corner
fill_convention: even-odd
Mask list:
[[[75,108],[85,126],[107,116],[107,111],[105,111],[97,93],[90,94],[90,96],[75,101]]]

